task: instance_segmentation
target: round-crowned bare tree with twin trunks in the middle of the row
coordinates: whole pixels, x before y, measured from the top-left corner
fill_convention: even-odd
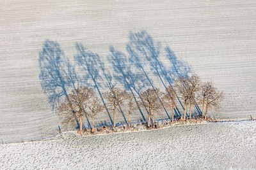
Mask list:
[[[157,111],[163,109],[163,104],[160,101],[163,93],[159,89],[147,89],[141,92],[140,96],[143,100],[141,101],[141,106],[148,110],[147,125],[150,127],[150,119],[152,118],[152,125],[154,125]]]

